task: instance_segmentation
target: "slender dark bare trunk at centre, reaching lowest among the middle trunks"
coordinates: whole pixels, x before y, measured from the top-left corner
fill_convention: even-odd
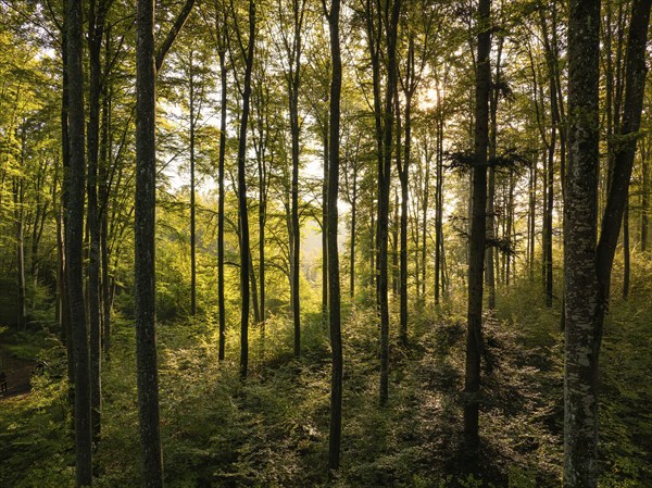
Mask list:
[[[328,438],[328,468],[339,468],[340,439],[342,429],[342,339],[340,329],[339,256],[337,249],[338,187],[339,187],[339,140],[340,140],[340,92],[342,63],[339,40],[340,0],[333,0],[328,16],[330,27],[330,151],[328,160],[328,299],[330,322],[330,430]]]

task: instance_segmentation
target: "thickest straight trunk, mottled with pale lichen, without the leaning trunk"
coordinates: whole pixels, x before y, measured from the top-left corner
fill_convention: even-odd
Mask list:
[[[568,174],[564,208],[564,487],[595,487],[602,306],[595,268],[600,0],[572,0],[568,24]]]

